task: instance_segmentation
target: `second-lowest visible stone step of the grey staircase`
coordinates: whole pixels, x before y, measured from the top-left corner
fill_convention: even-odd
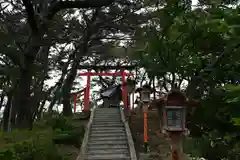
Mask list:
[[[119,148],[119,149],[112,149],[112,148],[109,148],[107,150],[88,150],[87,151],[87,154],[88,155],[93,155],[93,154],[96,154],[96,155],[99,155],[99,154],[111,154],[111,153],[117,153],[117,154],[128,154],[129,151],[127,148]]]

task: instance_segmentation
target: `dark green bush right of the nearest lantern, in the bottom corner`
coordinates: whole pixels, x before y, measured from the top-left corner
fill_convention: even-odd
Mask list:
[[[207,159],[236,159],[240,153],[240,88],[225,85],[211,93],[191,119],[191,135],[185,150]],[[193,138],[194,137],[194,138]]]

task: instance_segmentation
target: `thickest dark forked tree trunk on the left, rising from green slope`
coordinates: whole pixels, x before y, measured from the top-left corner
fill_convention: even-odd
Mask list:
[[[32,77],[36,72],[35,70],[33,70],[35,68],[34,62],[36,60],[36,53],[42,56],[40,57],[40,62],[45,65],[45,67],[43,68],[43,80],[45,73],[47,73],[49,47],[40,47],[37,44],[39,44],[39,39],[33,37],[31,43],[29,44],[29,47],[24,54],[24,63],[20,66],[20,77],[16,86],[16,93],[13,97],[13,109],[16,109],[17,111],[17,121],[15,126],[16,128],[31,129],[33,124],[33,112],[31,106],[31,85]],[[40,86],[39,88],[41,87],[42,86]]]

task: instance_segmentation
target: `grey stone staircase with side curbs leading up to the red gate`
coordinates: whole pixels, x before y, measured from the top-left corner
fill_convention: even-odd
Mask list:
[[[120,107],[94,109],[77,160],[137,160]]]

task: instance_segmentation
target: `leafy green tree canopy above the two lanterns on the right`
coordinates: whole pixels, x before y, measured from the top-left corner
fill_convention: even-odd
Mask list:
[[[205,86],[236,83],[240,77],[239,7],[187,11],[173,6],[154,11],[151,25],[136,32],[140,42],[135,58],[148,75],[157,76],[161,87],[197,76],[201,83],[194,88],[201,92]]]

